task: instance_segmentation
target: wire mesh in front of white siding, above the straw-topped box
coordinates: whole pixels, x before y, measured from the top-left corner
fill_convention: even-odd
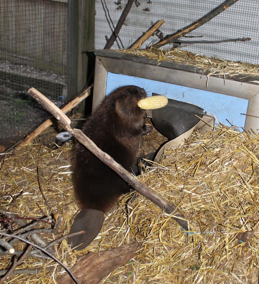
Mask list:
[[[164,19],[165,23],[159,32],[145,42],[142,48],[157,42],[161,37],[175,33],[190,25],[212,9],[223,3],[223,0],[136,0],[122,26],[119,37],[124,48],[128,48],[156,21]],[[106,38],[111,35],[111,24],[117,23],[127,0],[96,0],[95,2],[95,48],[102,49]],[[259,64],[259,0],[239,0],[215,18],[188,33],[182,40],[189,41],[224,41],[235,38],[252,38],[251,41],[232,41],[222,43],[182,43],[181,48],[193,53],[219,57],[230,61],[242,61]],[[111,20],[109,19],[111,17]],[[108,20],[107,20],[108,19]],[[164,49],[173,44],[164,46]],[[113,49],[122,48],[117,41]]]

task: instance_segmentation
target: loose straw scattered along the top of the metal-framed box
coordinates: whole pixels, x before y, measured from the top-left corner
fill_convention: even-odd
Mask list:
[[[259,65],[245,62],[231,62],[216,57],[206,57],[203,54],[193,54],[190,51],[181,50],[179,48],[163,50],[150,47],[149,49],[120,49],[116,51],[156,59],[158,65],[162,61],[183,63],[202,69],[203,73],[207,74],[207,77],[216,75],[223,78],[232,78],[237,75],[259,75]]]

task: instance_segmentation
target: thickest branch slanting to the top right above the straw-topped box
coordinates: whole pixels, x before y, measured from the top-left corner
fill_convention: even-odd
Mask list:
[[[201,25],[204,25],[206,22],[216,17],[218,14],[226,10],[229,6],[235,4],[237,1],[238,0],[225,0],[222,4],[218,5],[218,7],[211,10],[209,13],[201,17],[196,22],[188,25],[185,28],[178,30],[176,33],[167,35],[163,40],[154,44],[153,47],[159,48],[165,44],[171,43],[173,40],[178,39],[187,33],[190,33],[192,30],[199,28]]]

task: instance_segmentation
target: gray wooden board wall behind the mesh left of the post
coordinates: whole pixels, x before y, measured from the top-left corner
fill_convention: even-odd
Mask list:
[[[0,57],[64,73],[67,64],[67,3],[0,1]],[[64,74],[65,75],[65,74]]]

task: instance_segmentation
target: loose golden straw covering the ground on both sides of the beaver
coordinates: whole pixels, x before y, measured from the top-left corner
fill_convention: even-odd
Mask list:
[[[89,250],[98,252],[139,241],[139,255],[101,283],[258,283],[258,140],[258,134],[222,125],[216,131],[194,132],[183,146],[166,151],[161,161],[139,177],[179,205],[192,232],[183,232],[140,194],[129,202],[132,192],[106,216],[101,233],[85,251],[70,251],[65,256],[69,247],[64,240],[57,246],[59,259],[72,266],[77,256]],[[22,216],[41,217],[49,209],[39,191],[40,166],[45,198],[62,219],[56,238],[69,232],[78,209],[72,191],[71,147],[71,143],[57,149],[30,144],[5,160],[0,171],[0,205]],[[253,231],[250,241],[240,242],[237,234],[246,231]],[[45,236],[49,241],[53,237]],[[3,257],[0,267],[7,268],[9,263],[10,257]],[[53,270],[45,272],[50,265]],[[54,261],[29,258],[19,268],[34,267],[42,267],[42,272],[12,275],[8,283],[25,283],[27,279],[57,283]]]

